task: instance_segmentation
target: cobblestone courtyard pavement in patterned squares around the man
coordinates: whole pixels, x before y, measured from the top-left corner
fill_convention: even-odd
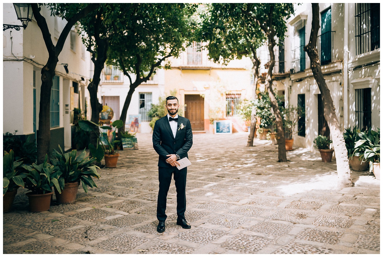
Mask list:
[[[28,211],[25,189],[3,213],[3,254],[379,254],[380,182],[352,172],[355,187],[336,189],[336,163],[298,148],[277,162],[277,146],[247,133],[195,134],[186,218],[175,225],[169,190],[166,230],[157,233],[157,154],[151,134],[139,150],[120,151],[98,188],[79,189],[69,205]],[[54,197],[55,199],[55,197]]]

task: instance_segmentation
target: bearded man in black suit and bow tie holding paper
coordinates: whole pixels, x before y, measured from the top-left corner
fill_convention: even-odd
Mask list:
[[[153,148],[159,155],[157,231],[160,233],[165,231],[166,199],[173,174],[177,190],[177,225],[191,228],[185,220],[187,168],[178,170],[176,166],[180,166],[177,160],[188,157],[188,151],[193,145],[193,134],[190,120],[177,114],[179,107],[178,99],[175,96],[168,96],[166,98],[168,114],[157,120],[153,129]]]

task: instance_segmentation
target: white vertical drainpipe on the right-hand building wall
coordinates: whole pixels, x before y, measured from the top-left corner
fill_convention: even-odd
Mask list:
[[[344,3],[343,127],[349,127],[349,3]]]

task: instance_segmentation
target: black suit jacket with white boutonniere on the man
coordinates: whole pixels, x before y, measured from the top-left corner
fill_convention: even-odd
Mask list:
[[[185,126],[183,129],[180,125]],[[177,154],[180,158],[188,157],[188,151],[193,145],[193,133],[191,132],[190,120],[178,115],[177,133],[173,137],[167,115],[158,119],[153,129],[153,148],[158,153],[158,166],[170,168],[172,165],[165,160],[166,155]]]

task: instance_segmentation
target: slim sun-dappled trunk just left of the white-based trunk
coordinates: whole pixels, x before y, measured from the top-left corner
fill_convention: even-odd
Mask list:
[[[273,79],[272,73],[275,65],[274,46],[276,45],[273,33],[266,33],[268,37],[268,50],[270,52],[270,62],[265,80],[268,96],[270,97],[271,107],[273,108],[275,116],[275,124],[277,126],[277,142],[278,142],[278,162],[286,162],[286,146],[285,146],[285,132],[283,130],[283,121],[281,111],[278,106],[277,99],[273,92]]]

